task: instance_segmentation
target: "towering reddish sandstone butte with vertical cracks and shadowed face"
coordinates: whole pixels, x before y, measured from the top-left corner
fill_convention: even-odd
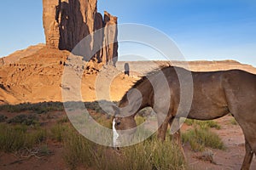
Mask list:
[[[47,47],[72,51],[84,37],[92,35],[90,43],[83,44],[86,54],[93,55],[99,63],[115,65],[118,56],[117,17],[105,12],[103,20],[96,4],[97,0],[43,0]],[[97,30],[100,33],[93,35]],[[95,49],[99,50],[93,54]]]

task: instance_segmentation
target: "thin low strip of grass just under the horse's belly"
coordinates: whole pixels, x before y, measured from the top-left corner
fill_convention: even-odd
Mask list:
[[[216,129],[220,129],[221,126],[218,124],[218,122],[214,122],[214,121],[198,121],[198,120],[194,120],[194,119],[186,119],[185,123],[189,126],[192,125],[199,125],[202,128],[207,128],[207,127],[211,127],[211,128],[216,128]]]

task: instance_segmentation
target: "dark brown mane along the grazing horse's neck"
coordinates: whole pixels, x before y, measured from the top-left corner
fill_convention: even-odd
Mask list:
[[[132,88],[137,88],[141,83],[143,83],[145,80],[147,80],[148,77],[151,77],[151,76],[157,74],[159,71],[162,71],[169,67],[172,67],[172,65],[170,65],[170,64],[169,65],[160,65],[158,68],[155,68],[154,70],[149,71],[145,76],[142,76],[137,82],[135,82],[129,90],[131,90]],[[127,99],[127,94],[129,92],[129,90],[125,92],[125,95],[119,101],[119,104],[122,102],[125,102],[125,100]]]

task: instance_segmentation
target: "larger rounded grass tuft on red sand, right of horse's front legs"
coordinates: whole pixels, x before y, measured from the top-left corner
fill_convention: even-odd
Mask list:
[[[202,151],[205,147],[224,150],[224,143],[218,137],[218,134],[213,133],[209,128],[195,127],[182,134],[183,143],[189,142],[191,149]]]

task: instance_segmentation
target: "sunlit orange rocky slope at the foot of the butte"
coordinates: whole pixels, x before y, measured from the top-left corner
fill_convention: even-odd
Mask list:
[[[70,64],[72,56],[67,50],[44,47],[34,54],[20,58],[15,63],[0,66],[0,105],[62,101],[62,90],[72,91],[73,84],[78,83],[74,82],[74,78],[78,77],[76,71],[82,71],[80,87],[83,100],[96,100],[95,84],[96,81],[99,82],[96,80],[96,74],[91,75],[86,70],[89,63],[83,61],[82,57],[76,56],[78,65]],[[70,89],[67,88],[67,84],[62,83],[64,69],[75,71],[68,81]],[[113,83],[108,90],[111,91],[111,99],[119,100],[131,87],[134,78],[125,78],[112,66],[109,66],[108,71],[98,74],[112,79],[110,75],[113,73],[116,77],[113,78]]]

